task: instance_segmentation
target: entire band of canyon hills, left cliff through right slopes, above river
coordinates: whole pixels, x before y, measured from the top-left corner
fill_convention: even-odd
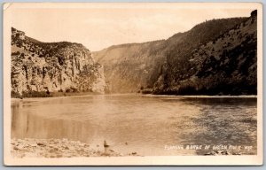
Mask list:
[[[254,95],[256,19],[256,11],[248,18],[211,19],[166,40],[93,52],[76,42],[40,42],[12,27],[12,95]]]

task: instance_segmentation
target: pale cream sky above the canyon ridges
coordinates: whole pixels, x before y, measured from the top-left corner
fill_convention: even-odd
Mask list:
[[[79,42],[91,51],[167,39],[206,19],[249,17],[254,9],[215,5],[15,5],[12,27],[41,42]]]

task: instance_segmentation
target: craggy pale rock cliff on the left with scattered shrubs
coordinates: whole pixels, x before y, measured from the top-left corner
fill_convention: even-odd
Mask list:
[[[12,92],[104,93],[103,66],[90,50],[72,42],[39,42],[12,28]]]

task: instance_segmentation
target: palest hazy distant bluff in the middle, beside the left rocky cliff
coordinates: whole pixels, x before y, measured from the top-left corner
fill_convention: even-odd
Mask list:
[[[164,42],[129,43],[93,52],[93,57],[105,66],[109,91],[137,92],[153,87],[161,72],[158,67],[165,62],[159,50]]]

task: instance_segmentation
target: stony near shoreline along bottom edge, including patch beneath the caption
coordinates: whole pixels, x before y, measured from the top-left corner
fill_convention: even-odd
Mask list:
[[[86,158],[86,157],[144,157],[136,151],[122,154],[113,151],[109,147],[97,149],[90,147],[88,143],[63,139],[35,139],[24,138],[11,140],[11,154],[13,158]],[[241,156],[254,155],[256,151],[244,151],[239,149],[195,150],[194,156]],[[161,155],[165,156],[165,155]],[[179,155],[176,155],[179,156]]]

